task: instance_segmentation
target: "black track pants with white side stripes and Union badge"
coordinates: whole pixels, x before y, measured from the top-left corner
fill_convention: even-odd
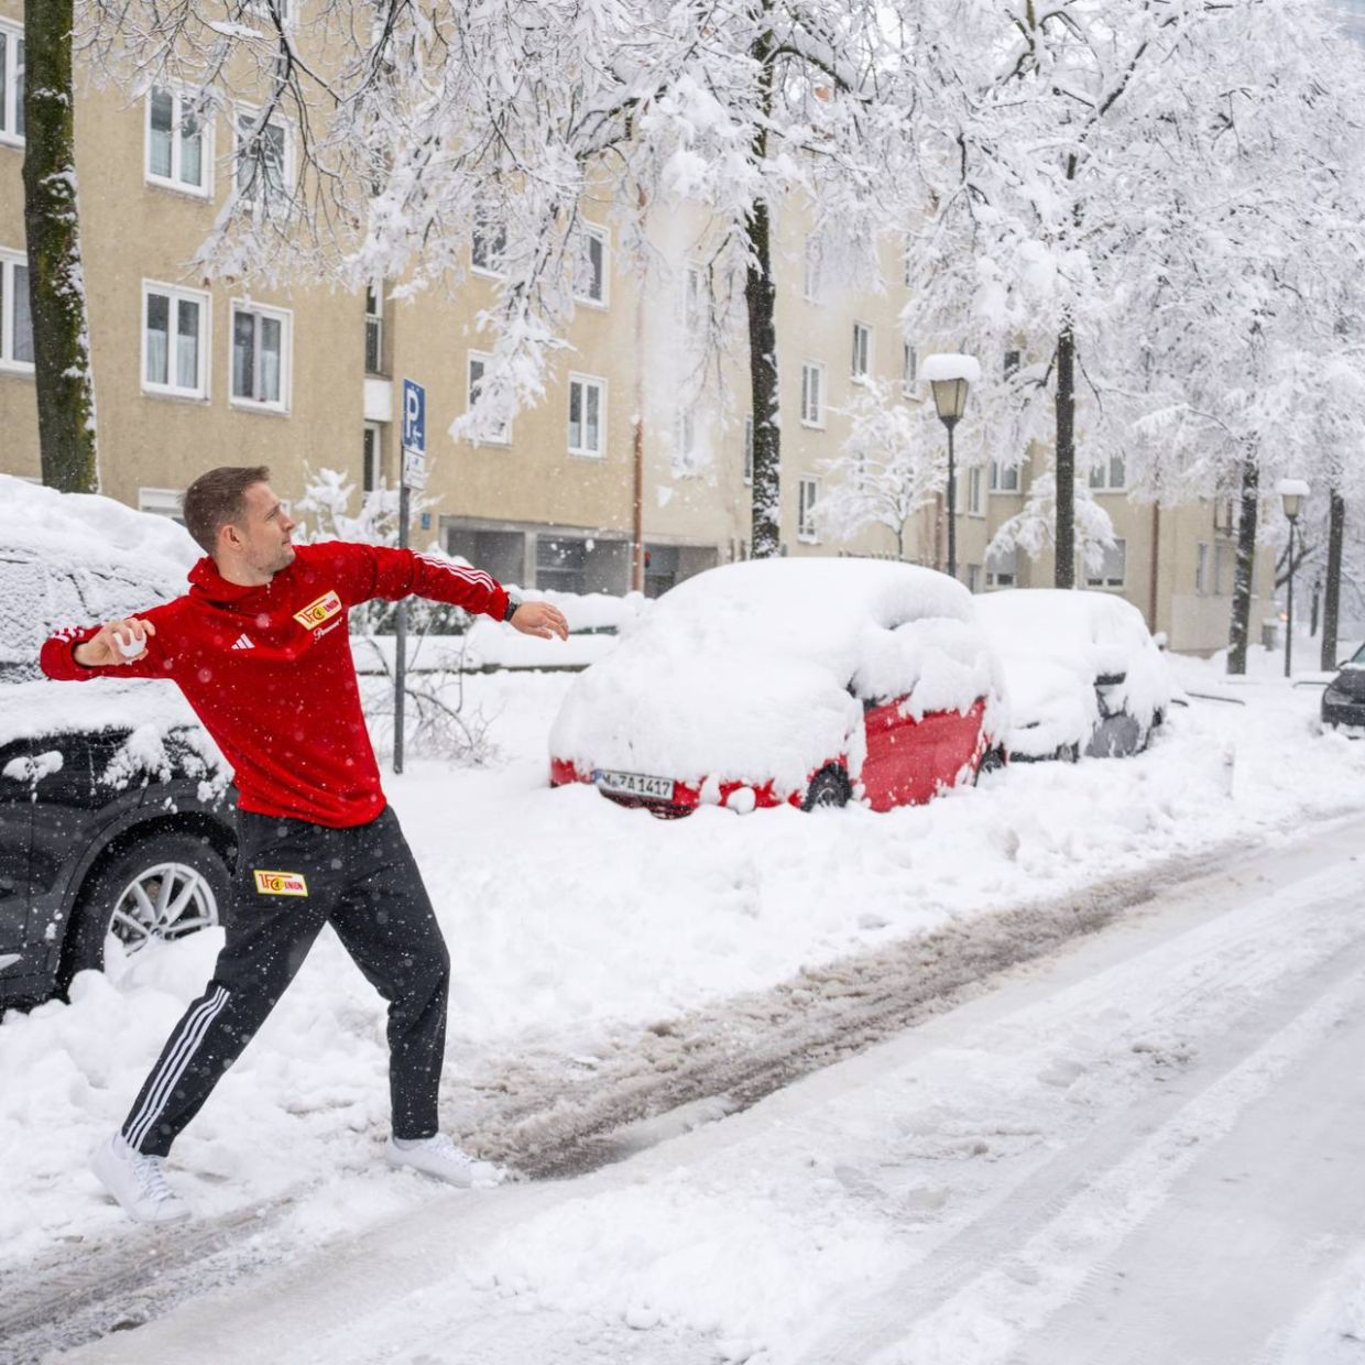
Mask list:
[[[397,816],[332,830],[238,812],[227,943],[142,1087],[123,1136],[165,1156],[265,1022],[324,924],[389,1002],[394,1137],[437,1130],[450,958]]]

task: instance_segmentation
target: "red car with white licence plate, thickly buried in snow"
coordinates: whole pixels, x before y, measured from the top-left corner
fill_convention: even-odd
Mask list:
[[[657,815],[887,811],[975,779],[1002,723],[961,584],[875,560],[749,561],[666,592],[575,680],[550,781]]]

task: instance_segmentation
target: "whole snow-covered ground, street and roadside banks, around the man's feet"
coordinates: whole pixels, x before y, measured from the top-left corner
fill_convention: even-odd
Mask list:
[[[1365,745],[1317,734],[1317,689],[1274,662],[1230,685],[1177,661],[1233,700],[1193,698],[1137,759],[684,822],[545,788],[565,678],[474,680],[500,760],[388,779],[457,962],[444,1104],[516,1171],[587,1174],[385,1171],[382,1002],[329,934],[176,1147],[195,1222],[127,1223],[86,1155],[205,932],[0,1026],[25,1077],[0,1336],[168,1362],[206,1338],[216,1362],[1351,1358]]]

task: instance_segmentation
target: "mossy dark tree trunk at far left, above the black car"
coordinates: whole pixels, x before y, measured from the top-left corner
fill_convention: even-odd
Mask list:
[[[23,221],[42,482],[100,487],[94,378],[76,199],[72,0],[25,5]]]

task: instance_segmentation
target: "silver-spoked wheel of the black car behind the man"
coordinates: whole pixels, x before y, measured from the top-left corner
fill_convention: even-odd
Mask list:
[[[131,957],[221,924],[231,885],[205,838],[161,831],[136,839],[81,889],[57,984],[66,990],[76,972],[102,971],[111,939]]]

